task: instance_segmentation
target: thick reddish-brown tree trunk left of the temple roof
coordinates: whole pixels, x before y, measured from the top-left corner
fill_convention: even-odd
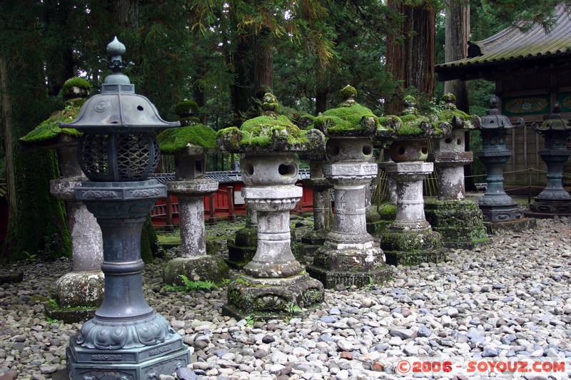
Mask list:
[[[400,30],[387,36],[387,69],[401,90],[387,99],[385,111],[403,110],[404,88],[415,88],[432,97],[434,93],[436,10],[432,1],[388,0],[387,5],[405,16]]]

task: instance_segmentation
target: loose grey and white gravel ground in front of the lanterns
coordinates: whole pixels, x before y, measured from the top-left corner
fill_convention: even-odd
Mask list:
[[[403,379],[395,376],[403,356],[569,364],[570,242],[571,220],[540,220],[535,231],[452,250],[448,262],[398,267],[382,287],[327,290],[305,317],[267,323],[223,317],[226,289],[164,292],[163,260],[146,267],[144,292],[191,347],[183,379]],[[0,286],[0,379],[49,379],[65,367],[69,337],[81,325],[47,321],[37,296],[50,297],[71,260],[18,268],[24,282]]]

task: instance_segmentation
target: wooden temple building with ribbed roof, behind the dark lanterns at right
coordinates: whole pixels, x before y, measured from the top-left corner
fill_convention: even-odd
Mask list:
[[[468,58],[435,67],[439,81],[494,81],[502,113],[512,122],[525,119],[525,128],[508,133],[507,147],[514,155],[504,169],[506,184],[527,185],[530,181],[532,185],[545,185],[545,173],[533,170],[547,170],[538,154],[543,138],[530,125],[545,120],[556,101],[562,117],[571,119],[570,12],[565,6],[557,6],[555,24],[549,31],[540,25],[525,32],[509,27],[482,41],[469,41]],[[531,176],[509,173],[529,168],[533,168]]]

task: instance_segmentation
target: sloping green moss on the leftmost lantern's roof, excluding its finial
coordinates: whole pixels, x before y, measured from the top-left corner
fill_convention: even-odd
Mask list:
[[[81,104],[84,99],[74,100],[64,108],[63,111],[53,113],[47,120],[42,121],[34,130],[20,139],[22,143],[27,145],[51,145],[57,142],[60,133],[79,137],[79,133],[74,128],[60,128],[59,123],[64,121],[69,123],[74,120],[79,113]],[[81,103],[81,104],[79,104]]]

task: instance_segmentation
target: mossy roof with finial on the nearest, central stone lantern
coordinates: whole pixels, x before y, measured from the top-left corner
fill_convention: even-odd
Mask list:
[[[325,149],[319,130],[300,130],[284,115],[278,115],[278,101],[271,93],[263,96],[263,115],[246,120],[241,128],[231,127],[216,134],[218,145],[231,153],[311,152]]]

